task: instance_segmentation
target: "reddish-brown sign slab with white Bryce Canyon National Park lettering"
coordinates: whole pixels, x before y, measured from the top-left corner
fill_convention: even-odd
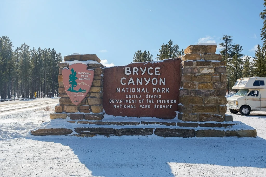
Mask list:
[[[176,116],[181,59],[131,63],[104,69],[103,109],[114,116]]]

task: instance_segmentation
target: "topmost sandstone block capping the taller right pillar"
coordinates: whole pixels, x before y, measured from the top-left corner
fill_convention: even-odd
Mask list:
[[[185,50],[184,53],[215,53],[217,45],[190,45]]]

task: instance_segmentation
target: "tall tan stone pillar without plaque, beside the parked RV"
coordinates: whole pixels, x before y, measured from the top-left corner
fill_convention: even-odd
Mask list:
[[[178,119],[225,121],[226,63],[216,45],[190,45],[181,62]]]

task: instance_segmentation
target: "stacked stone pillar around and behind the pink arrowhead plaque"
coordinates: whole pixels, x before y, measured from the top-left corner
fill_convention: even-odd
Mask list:
[[[94,77],[92,82],[92,87],[90,88],[88,94],[85,96],[84,100],[81,101],[77,106],[72,103],[69,96],[67,95],[64,84],[62,70],[64,67],[69,68],[67,62],[59,63],[59,105],[55,106],[55,112],[60,114],[50,114],[51,119],[55,118],[65,118],[69,115],[71,118],[76,119],[81,115],[80,113],[96,113],[99,117],[102,117],[103,105],[103,65],[100,63],[101,60],[95,54],[76,54],[68,55],[64,57],[64,61],[97,61],[98,63],[88,64],[88,69],[94,70]],[[64,113],[63,113],[64,112]],[[70,113],[70,114],[67,114]],[[76,113],[76,114],[73,114]],[[65,115],[64,115],[65,114]],[[76,118],[74,118],[76,117]]]

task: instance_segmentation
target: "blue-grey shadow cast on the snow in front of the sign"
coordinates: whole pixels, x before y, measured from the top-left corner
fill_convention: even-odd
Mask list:
[[[168,162],[266,167],[266,140],[155,136],[31,136],[69,146],[95,176],[173,176]]]

